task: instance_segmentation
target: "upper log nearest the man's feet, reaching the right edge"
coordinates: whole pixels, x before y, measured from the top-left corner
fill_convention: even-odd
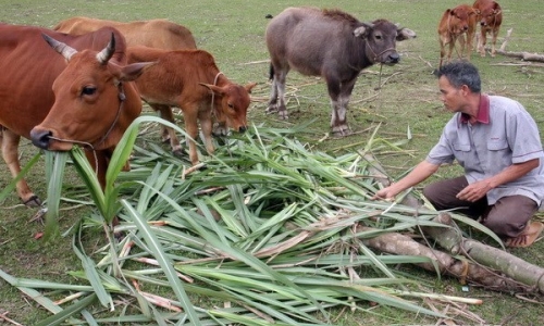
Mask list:
[[[456,230],[455,222],[447,213],[438,214],[434,221],[453,226],[450,228],[422,227],[423,233],[445,250],[453,254],[462,254],[478,264],[497,271],[495,278],[502,278],[497,275],[504,275],[508,279],[524,285],[529,292],[544,293],[544,268],[528,263],[504,250],[461,237],[460,233]]]

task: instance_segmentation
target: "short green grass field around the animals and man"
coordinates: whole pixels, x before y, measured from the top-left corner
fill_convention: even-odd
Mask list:
[[[361,0],[347,1],[2,1],[0,22],[10,24],[37,25],[52,27],[57,22],[76,15],[92,16],[115,21],[135,21],[149,18],[169,18],[188,27],[197,40],[197,46],[211,52],[218,66],[231,79],[247,84],[258,83],[254,89],[254,102],[248,113],[252,124],[290,128],[309,121],[312,124],[299,137],[314,143],[320,150],[339,154],[364,146],[372,131],[379,127],[378,135],[385,139],[398,139],[411,130],[413,139],[404,151],[383,158],[382,164],[393,177],[399,177],[409,167],[424,159],[435,143],[445,122],[450,115],[438,101],[437,83],[432,75],[438,63],[438,41],[436,25],[447,8],[457,5],[457,1],[438,0]],[[544,52],[544,12],[537,10],[541,0],[502,0],[504,24],[499,43],[506,30],[512,28],[508,41],[508,51]],[[267,14],[275,15],[286,7],[316,5],[320,8],[341,8],[361,21],[386,17],[401,26],[415,30],[418,37],[397,45],[401,62],[395,66],[384,66],[381,80],[386,82],[381,90],[379,85],[380,67],[366,70],[358,79],[351,97],[348,123],[354,135],[333,138],[329,133],[330,100],[325,86],[320,78],[305,77],[292,72],[287,76],[289,91],[289,120],[279,121],[275,115],[264,114],[269,95],[268,52],[264,46]],[[1,42],[1,40],[0,40]],[[499,45],[498,45],[499,46]],[[520,101],[533,115],[536,123],[544,127],[544,70],[539,63],[521,62],[517,59],[497,55],[480,58],[472,55],[472,62],[480,68],[483,90],[503,95]],[[1,73],[1,72],[0,72]],[[13,80],[16,83],[16,80]],[[1,87],[0,87],[1,88]],[[36,152],[27,140],[22,141],[23,163]],[[379,158],[380,159],[380,158]],[[42,165],[41,165],[42,166]],[[436,177],[457,173],[456,167],[445,168]],[[67,170],[67,189],[79,185],[75,172]],[[42,198],[46,197],[47,183],[40,166],[35,166],[27,175],[30,187]],[[0,189],[11,181],[11,176],[3,161],[0,162]],[[89,209],[65,204],[61,216],[61,230],[67,231],[73,222],[89,214]],[[0,203],[0,269],[16,277],[32,277],[70,283],[66,272],[81,262],[71,248],[71,237],[64,237],[54,243],[35,240],[34,235],[42,226],[29,220],[36,210],[20,204],[13,193]],[[102,243],[100,230],[85,236],[88,252],[97,250]],[[517,249],[511,252],[527,261],[543,266],[544,244],[537,242],[530,249]],[[434,283],[433,275],[421,274],[426,283]],[[436,292],[455,296],[462,294],[456,280],[445,279],[434,283]],[[531,303],[510,293],[497,293],[471,289],[471,297],[483,299],[480,306],[468,309],[483,318],[482,324],[494,325],[542,325],[544,317],[541,303]],[[540,298],[534,298],[539,300]],[[9,312],[9,317],[24,325],[34,325],[48,314],[29,303],[21,291],[0,280],[0,315]],[[390,312],[397,314],[397,312]],[[434,324],[435,321],[400,312],[396,315],[403,322],[398,324]],[[385,325],[379,317],[358,315],[343,318],[338,325]],[[7,322],[4,322],[8,325]],[[2,318],[0,318],[0,325]]]

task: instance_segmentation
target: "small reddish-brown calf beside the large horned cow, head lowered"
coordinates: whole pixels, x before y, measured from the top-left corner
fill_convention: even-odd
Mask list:
[[[135,83],[141,98],[174,123],[171,106],[183,111],[185,129],[189,139],[189,159],[198,163],[195,139],[198,136],[198,121],[202,128],[206,149],[213,153],[212,114],[236,131],[247,128],[246,114],[249,92],[255,84],[245,87],[232,83],[215,65],[213,57],[203,50],[165,51],[147,47],[129,47],[129,63],[153,61],[156,64]],[[171,145],[181,150],[180,140],[170,130]]]

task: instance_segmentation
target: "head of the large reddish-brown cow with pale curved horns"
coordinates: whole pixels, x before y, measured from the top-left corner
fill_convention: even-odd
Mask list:
[[[132,83],[149,63],[120,66],[110,62],[115,39],[100,52],[77,52],[44,35],[67,65],[52,89],[54,104],[41,124],[30,131],[33,143],[47,150],[70,150],[73,143],[96,150],[114,147],[141,112],[141,101]]]

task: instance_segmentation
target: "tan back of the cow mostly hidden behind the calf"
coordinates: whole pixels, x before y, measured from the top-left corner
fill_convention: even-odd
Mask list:
[[[145,46],[164,50],[196,49],[195,38],[185,26],[166,20],[115,22],[89,17],[72,17],[60,22],[53,30],[82,35],[98,28],[115,27],[126,39],[126,46]]]

